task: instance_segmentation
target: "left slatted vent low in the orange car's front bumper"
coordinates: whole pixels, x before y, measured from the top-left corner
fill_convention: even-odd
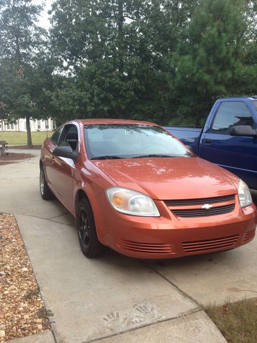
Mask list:
[[[118,244],[121,248],[135,251],[135,252],[144,252],[151,254],[173,254],[170,244],[162,243],[142,243],[138,241],[126,241],[121,240]]]

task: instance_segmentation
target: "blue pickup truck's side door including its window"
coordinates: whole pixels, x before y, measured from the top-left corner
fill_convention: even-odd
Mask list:
[[[202,134],[199,156],[225,167],[256,188],[257,139],[230,136],[231,128],[238,125],[256,128],[249,105],[239,100],[221,102],[210,128]]]

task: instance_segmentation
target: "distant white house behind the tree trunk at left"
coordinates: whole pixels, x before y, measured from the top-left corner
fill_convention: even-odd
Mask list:
[[[30,119],[30,129],[32,131],[52,131],[56,129],[56,123],[53,119],[32,120]],[[26,119],[21,118],[16,123],[7,123],[0,121],[0,131],[27,131]]]

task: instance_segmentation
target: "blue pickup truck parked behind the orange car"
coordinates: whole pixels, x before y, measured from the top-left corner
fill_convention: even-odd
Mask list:
[[[257,97],[218,99],[204,128],[164,128],[201,158],[257,189]]]

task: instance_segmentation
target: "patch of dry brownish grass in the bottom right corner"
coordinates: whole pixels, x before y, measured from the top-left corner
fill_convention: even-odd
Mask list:
[[[257,342],[257,298],[206,308],[228,342]]]

